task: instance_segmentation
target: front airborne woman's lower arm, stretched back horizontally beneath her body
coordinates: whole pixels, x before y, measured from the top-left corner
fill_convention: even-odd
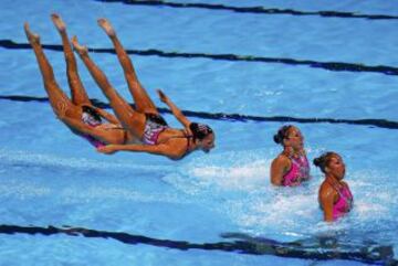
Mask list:
[[[148,152],[151,155],[166,156],[170,159],[179,159],[184,156],[184,151],[181,152],[168,145],[107,145],[100,147],[97,151],[107,155],[117,151]]]

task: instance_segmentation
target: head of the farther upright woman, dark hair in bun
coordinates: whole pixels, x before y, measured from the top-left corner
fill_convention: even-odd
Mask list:
[[[303,135],[293,125],[281,127],[274,135],[274,141],[283,147],[292,147],[293,149],[301,149],[304,146]]]

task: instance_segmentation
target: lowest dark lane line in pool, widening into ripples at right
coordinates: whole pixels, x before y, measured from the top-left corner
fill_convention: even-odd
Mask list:
[[[295,242],[277,242],[263,237],[251,237],[240,233],[224,233],[223,238],[233,242],[190,243],[174,240],[157,240],[145,235],[133,235],[124,232],[97,231],[84,227],[39,227],[0,225],[0,234],[41,234],[44,236],[66,234],[70,236],[84,236],[95,238],[112,238],[128,245],[150,245],[157,247],[175,248],[179,251],[202,249],[235,252],[250,255],[274,255],[315,260],[347,259],[368,264],[396,265],[391,246],[378,245],[374,242],[362,244],[341,243],[337,237],[323,236],[305,238]]]

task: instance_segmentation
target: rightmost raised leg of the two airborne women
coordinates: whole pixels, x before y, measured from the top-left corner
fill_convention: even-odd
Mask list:
[[[115,30],[112,28],[111,23],[106,19],[98,19],[98,25],[105,31],[105,33],[108,35],[111,41],[114,44],[117,57],[122,64],[124,75],[128,85],[128,89],[130,94],[133,95],[136,109],[139,113],[149,113],[149,114],[158,114],[158,110],[156,109],[155,104],[148,96],[145,88],[140,85],[138,77],[136,75],[136,72],[134,70],[133,62],[124,47],[122,46],[122,43],[119,42]]]

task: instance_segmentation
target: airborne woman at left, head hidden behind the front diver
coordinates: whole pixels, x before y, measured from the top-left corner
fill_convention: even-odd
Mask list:
[[[30,30],[28,23],[24,24],[24,31],[38,61],[44,88],[56,117],[73,134],[83,136],[96,148],[103,147],[104,143],[124,145],[134,142],[136,138],[122,128],[121,123],[113,114],[93,105],[80,78],[77,64],[66,33],[66,25],[59,14],[52,14],[51,19],[62,40],[71,98],[67,97],[56,83],[54,71],[40,43],[40,36]],[[98,118],[95,120],[93,116]],[[108,123],[103,124],[101,118]]]

